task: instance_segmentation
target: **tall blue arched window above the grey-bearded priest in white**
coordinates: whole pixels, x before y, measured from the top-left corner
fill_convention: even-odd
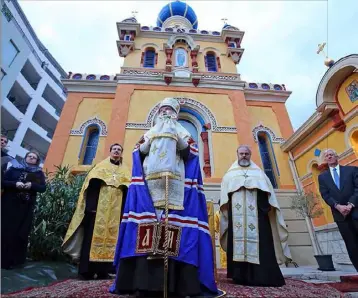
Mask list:
[[[259,144],[259,150],[261,155],[262,165],[264,167],[265,174],[269,177],[272,186],[277,188],[277,181],[275,175],[275,156],[271,146],[270,137],[265,132],[259,132],[257,135],[257,142]]]

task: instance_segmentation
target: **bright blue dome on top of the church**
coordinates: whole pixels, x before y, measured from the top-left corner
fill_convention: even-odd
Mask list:
[[[162,27],[163,23],[172,16],[182,16],[192,24],[194,29],[198,28],[198,18],[195,11],[181,1],[170,2],[162,8],[158,15],[157,26]]]

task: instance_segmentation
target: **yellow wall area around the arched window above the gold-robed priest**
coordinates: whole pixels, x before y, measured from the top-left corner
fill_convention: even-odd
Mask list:
[[[112,101],[113,99],[84,98],[78,108],[72,129],[79,129],[82,123],[94,117],[99,118],[108,126],[112,111]],[[69,137],[65,156],[62,161],[63,165],[77,166],[79,164],[78,156],[81,150],[82,139],[83,136]],[[100,137],[94,163],[102,160],[104,147],[105,137]],[[84,168],[88,167],[90,166],[84,166]]]

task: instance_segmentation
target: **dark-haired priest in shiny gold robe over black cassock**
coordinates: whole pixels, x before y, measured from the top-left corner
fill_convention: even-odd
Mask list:
[[[79,261],[80,279],[106,279],[113,272],[118,228],[131,179],[122,153],[123,147],[113,144],[110,156],[88,173],[67,230],[63,250]]]

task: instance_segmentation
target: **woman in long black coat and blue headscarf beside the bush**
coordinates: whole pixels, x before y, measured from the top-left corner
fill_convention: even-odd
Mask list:
[[[1,268],[11,269],[26,261],[36,195],[46,190],[45,175],[39,164],[39,155],[28,152],[2,177]]]

